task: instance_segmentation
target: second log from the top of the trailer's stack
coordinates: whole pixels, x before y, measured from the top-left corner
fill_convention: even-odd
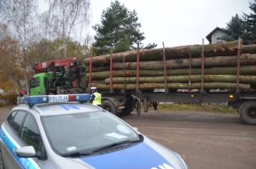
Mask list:
[[[236,65],[236,55],[234,56],[217,56],[211,58],[205,58],[205,67],[210,66],[233,66]],[[241,54],[241,65],[256,65],[256,54]],[[137,66],[136,62],[115,62],[113,63],[113,70],[135,70]],[[193,67],[201,66],[201,58],[192,59]],[[189,67],[189,59],[172,59],[167,60],[167,69],[174,68],[188,68]],[[148,69],[148,70],[159,70],[163,69],[164,64],[163,61],[145,61],[140,62],[140,69]]]

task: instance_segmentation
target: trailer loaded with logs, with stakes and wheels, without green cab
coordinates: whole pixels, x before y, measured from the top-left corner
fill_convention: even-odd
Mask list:
[[[133,110],[140,115],[141,105],[147,112],[148,106],[157,110],[160,102],[228,103],[242,122],[256,124],[256,45],[235,41],[112,51],[111,47],[110,54],[84,59],[82,88],[88,92],[97,87],[102,108],[114,115],[129,115]]]

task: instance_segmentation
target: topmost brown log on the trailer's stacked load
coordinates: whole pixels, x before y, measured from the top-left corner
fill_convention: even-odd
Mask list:
[[[238,41],[234,42],[224,42],[218,44],[209,44],[205,45],[205,56],[212,57],[218,55],[235,55],[237,51]],[[172,47],[165,48],[166,50],[166,59],[181,59],[181,58],[189,58],[189,54],[191,51],[192,58],[201,56],[201,45],[188,45],[181,47]],[[241,48],[242,53],[255,54],[256,53],[256,45],[248,45],[243,46]],[[141,61],[154,61],[154,60],[162,60],[163,59],[163,49],[162,48],[154,48],[148,50],[140,50],[140,60]],[[128,62],[134,62],[137,59],[137,51],[128,51],[118,54],[113,54],[113,62],[121,62],[125,60]],[[93,65],[109,65],[110,54],[105,54],[101,56],[93,57],[92,63]],[[90,64],[90,59],[84,59],[85,65]]]

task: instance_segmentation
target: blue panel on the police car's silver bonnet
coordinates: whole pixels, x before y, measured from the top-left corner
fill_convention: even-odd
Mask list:
[[[174,168],[164,157],[144,143],[108,154],[84,157],[81,160],[96,169],[152,169],[166,168],[165,166]]]

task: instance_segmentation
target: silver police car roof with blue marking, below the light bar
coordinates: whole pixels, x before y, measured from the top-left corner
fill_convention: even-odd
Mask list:
[[[81,112],[93,112],[102,110],[102,108],[92,104],[81,103],[50,103],[50,104],[35,104],[29,106],[27,104],[20,104],[13,110],[26,110],[29,112],[38,113],[39,115],[66,115]]]

